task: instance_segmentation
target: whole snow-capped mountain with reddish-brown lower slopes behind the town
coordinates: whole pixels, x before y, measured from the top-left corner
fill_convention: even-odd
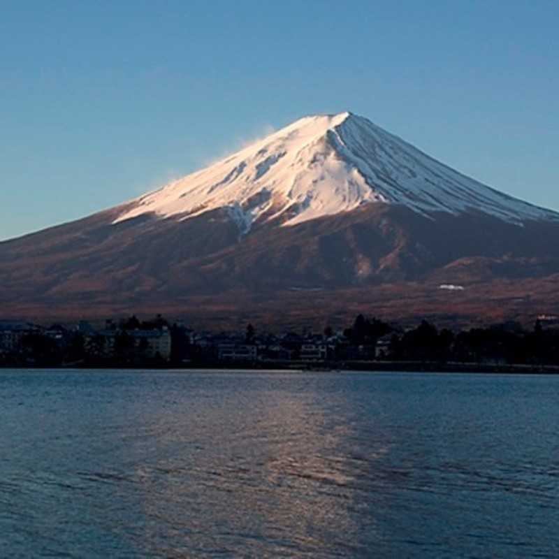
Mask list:
[[[10,316],[298,324],[558,310],[559,214],[349,112],[305,117],[116,208],[0,243]]]

